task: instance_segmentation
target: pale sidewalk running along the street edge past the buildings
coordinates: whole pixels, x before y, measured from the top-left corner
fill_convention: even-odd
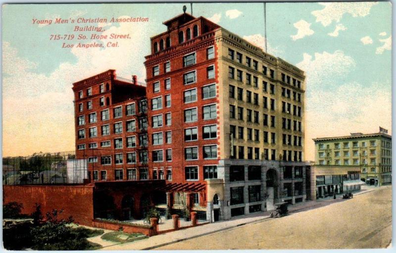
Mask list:
[[[360,195],[377,189],[378,188],[364,189],[360,192],[353,193],[353,195],[354,196]],[[321,206],[331,204],[333,202],[342,202],[342,201],[345,200],[342,200],[342,195],[340,194],[337,195],[336,200],[334,200],[332,197],[329,197],[329,198],[321,199],[319,201],[300,202],[294,205],[289,205],[289,212],[293,214],[294,212],[303,211],[305,209],[318,208]],[[132,243],[108,246],[102,248],[101,250],[151,250],[165,245],[193,239],[196,237],[200,237],[212,233],[217,233],[238,226],[243,226],[249,223],[255,223],[266,219],[270,219],[269,214],[270,211],[259,212],[252,215],[246,215],[243,218],[236,217],[231,220],[218,221],[215,223],[209,223],[198,227],[177,230],[166,234],[160,234],[157,236],[149,237],[148,239],[144,239]]]

